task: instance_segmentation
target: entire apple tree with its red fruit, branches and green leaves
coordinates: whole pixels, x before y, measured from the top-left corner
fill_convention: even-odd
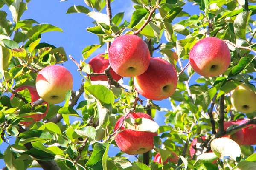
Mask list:
[[[0,153],[4,170],[256,169],[255,1],[131,1],[134,11],[129,20],[123,20],[124,13],[112,14],[111,5],[118,0],[84,0],[83,6],[67,8],[67,15],[93,19],[86,31],[99,39],[75,58],[63,47],[41,42],[44,33],[61,28],[38,23],[33,16],[20,20],[29,10],[30,0],[0,0],[0,8],[9,8],[8,12],[0,10],[0,144],[9,145]],[[124,5],[127,2],[122,1]],[[183,8],[186,3],[201,12],[190,15]],[[122,54],[118,50],[108,53],[111,44],[124,35],[139,37],[146,48],[132,42],[122,47]],[[127,40],[122,41],[121,45]],[[96,54],[101,48],[105,53]],[[148,58],[142,62],[137,57],[144,53],[137,53],[144,49]],[[132,54],[132,50],[137,52]],[[128,55],[135,59],[120,69],[149,66],[140,75],[116,79],[113,70],[119,73],[116,67],[120,64],[115,65],[118,57],[111,57],[117,53],[121,62],[126,62]],[[99,72],[101,62],[94,66],[87,62],[88,57],[97,55],[101,62],[110,61]],[[173,69],[158,65],[146,77],[141,76],[152,60]],[[79,72],[73,79],[81,86],[69,90],[55,87],[53,96],[62,93],[63,102],[44,101],[41,94],[34,99],[36,91],[29,88],[18,90],[32,86],[38,94],[39,90],[52,93],[44,85],[38,89],[39,72],[50,65],[65,67],[67,61]],[[177,79],[166,85],[171,70]],[[60,73],[50,74],[58,77]],[[99,79],[101,76],[105,78]],[[70,81],[62,80],[61,87]],[[161,85],[163,91],[158,93]],[[170,87],[174,87],[172,92]],[[160,98],[166,91],[170,94]],[[46,112],[41,121],[35,119]],[[153,119],[160,113],[164,122],[157,125]],[[81,121],[71,122],[71,117]],[[10,138],[15,142],[10,143]],[[121,150],[113,153],[111,148],[117,147]],[[131,161],[125,153],[136,160]]]

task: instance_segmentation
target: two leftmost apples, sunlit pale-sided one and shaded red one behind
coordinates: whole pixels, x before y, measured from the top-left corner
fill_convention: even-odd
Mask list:
[[[33,114],[25,117],[31,117],[34,121],[20,122],[23,125],[30,125],[32,122],[37,122],[43,119],[47,112],[49,105],[48,103],[58,104],[65,100],[67,91],[73,88],[73,77],[70,71],[60,65],[49,65],[39,71],[36,77],[36,87],[30,85],[24,85],[17,88],[15,91],[29,90],[31,96],[31,102],[35,102],[38,99],[43,99],[47,104],[47,110],[44,114]],[[12,100],[14,94],[10,97]]]

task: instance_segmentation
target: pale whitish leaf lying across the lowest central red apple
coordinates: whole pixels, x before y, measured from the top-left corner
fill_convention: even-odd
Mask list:
[[[133,119],[128,117],[124,121],[124,125],[127,129],[137,130],[137,131],[147,131],[151,133],[157,133],[159,125],[147,118],[137,118]]]

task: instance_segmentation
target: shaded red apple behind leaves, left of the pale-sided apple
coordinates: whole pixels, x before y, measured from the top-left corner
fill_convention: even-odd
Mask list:
[[[28,89],[29,90],[29,93],[30,93],[30,96],[31,96],[31,102],[35,102],[37,101],[38,99],[40,99],[40,96],[38,95],[38,92],[36,91],[36,88],[33,87],[33,86],[30,86],[30,85],[24,85],[24,86],[21,86],[19,88],[17,88],[15,91],[18,92],[18,91],[23,91],[25,89]],[[12,96],[10,97],[10,99],[12,100],[14,94],[12,94]],[[31,121],[31,122],[23,122],[21,121],[20,124],[23,124],[23,125],[26,125],[26,126],[29,126],[31,123],[33,122],[38,122],[42,119],[44,119],[44,117],[46,116],[47,112],[48,112],[48,109],[49,109],[49,105],[47,102],[44,102],[43,103],[44,105],[47,104],[47,109],[46,111],[44,112],[44,114],[33,114],[33,115],[27,115],[25,117],[31,117],[34,121]]]

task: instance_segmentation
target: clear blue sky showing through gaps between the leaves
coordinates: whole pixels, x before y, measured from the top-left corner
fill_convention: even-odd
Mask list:
[[[51,45],[54,45],[55,47],[64,47],[66,54],[73,56],[73,58],[79,62],[80,59],[82,59],[82,50],[89,46],[94,44],[99,44],[98,37],[95,34],[91,34],[86,31],[87,27],[93,27],[94,24],[93,19],[88,17],[86,14],[66,14],[67,9],[70,6],[73,5],[82,5],[86,6],[83,0],[67,0],[64,2],[60,2],[59,0],[31,0],[28,4],[28,9],[24,12],[23,16],[21,17],[21,20],[24,19],[34,19],[38,23],[49,23],[54,26],[58,26],[61,28],[64,32],[48,32],[42,34],[41,42],[46,42]],[[112,15],[117,14],[119,12],[125,12],[124,14],[124,20],[127,20],[128,22],[131,20],[132,12],[134,3],[128,0],[115,0],[113,3],[111,3],[112,8]],[[86,6],[87,7],[87,6]],[[89,7],[88,7],[89,8]],[[90,8],[89,8],[90,9]],[[6,11],[8,13],[7,18],[12,21],[12,16],[9,12],[9,9],[5,6],[1,10]],[[91,10],[91,9],[90,9]],[[192,3],[187,2],[185,6],[183,6],[183,11],[188,12],[190,15],[198,14],[199,15],[199,7],[198,6],[192,6]],[[105,8],[102,10],[102,12],[105,13]],[[175,19],[175,21],[180,20]],[[179,39],[182,39],[184,37],[180,37]],[[165,39],[163,39],[163,42],[166,42]],[[106,46],[103,46],[102,48],[97,49],[87,60],[88,63],[89,60],[94,57],[97,54],[100,54],[105,51]],[[160,56],[160,53],[155,53],[154,57]],[[68,62],[64,62],[64,67],[66,67],[73,75],[74,79],[74,85],[73,89],[78,90],[81,86],[81,76],[80,72],[77,71],[76,65],[69,60]],[[128,82],[128,78],[124,79],[124,82]],[[126,85],[128,85],[126,83]],[[79,101],[84,100],[83,97],[79,99]],[[169,108],[171,109],[171,105],[168,99],[155,102],[156,104],[160,105],[162,108]],[[64,104],[61,104],[64,105]],[[76,106],[75,106],[76,107]],[[76,120],[76,117],[70,116],[71,120]],[[159,124],[164,124],[164,113],[157,112],[154,120]],[[13,142],[13,140],[10,141],[10,143]],[[2,143],[0,147],[0,152],[3,153],[6,149],[7,144]],[[108,152],[109,156],[115,156],[119,152],[119,149],[117,147],[111,146],[110,151]],[[131,161],[134,161],[136,158],[134,156],[129,156],[129,159]],[[3,159],[0,159],[0,168],[4,167],[4,161]],[[33,170],[39,170],[40,168],[35,168]]]

